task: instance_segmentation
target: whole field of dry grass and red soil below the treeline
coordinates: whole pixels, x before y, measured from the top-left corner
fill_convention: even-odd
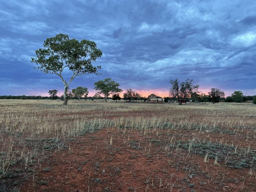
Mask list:
[[[256,107],[0,100],[2,191],[256,191]]]

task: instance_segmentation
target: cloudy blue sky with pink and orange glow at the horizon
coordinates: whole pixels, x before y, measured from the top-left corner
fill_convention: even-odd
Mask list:
[[[58,90],[60,77],[31,63],[59,33],[94,41],[102,75],[76,77],[70,88],[111,78],[142,96],[168,96],[170,80],[193,79],[199,91],[256,94],[255,0],[0,0],[0,95]],[[66,71],[68,80],[70,73]]]

